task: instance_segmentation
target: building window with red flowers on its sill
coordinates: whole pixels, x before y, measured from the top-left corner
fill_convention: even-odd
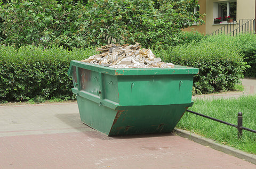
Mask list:
[[[221,17],[221,22],[225,22],[226,17],[230,16],[231,18],[236,21],[236,1],[227,1],[227,2],[220,2],[220,3],[215,3],[215,14],[214,18],[219,18]]]

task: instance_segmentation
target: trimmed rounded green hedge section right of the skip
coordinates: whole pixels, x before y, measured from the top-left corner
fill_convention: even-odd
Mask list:
[[[199,43],[156,51],[163,60],[199,68],[194,87],[203,93],[233,90],[246,69],[241,49],[231,36],[211,36]]]

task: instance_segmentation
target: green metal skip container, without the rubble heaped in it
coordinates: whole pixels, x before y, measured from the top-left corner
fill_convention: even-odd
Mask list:
[[[108,136],[171,132],[192,106],[193,76],[186,66],[114,69],[71,61],[83,123]]]

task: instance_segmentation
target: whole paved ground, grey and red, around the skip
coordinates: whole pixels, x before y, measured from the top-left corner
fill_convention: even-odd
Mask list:
[[[251,86],[256,83],[249,84],[249,91]],[[81,123],[76,103],[66,103],[0,106],[0,168],[256,168],[256,165],[174,133],[107,137]]]

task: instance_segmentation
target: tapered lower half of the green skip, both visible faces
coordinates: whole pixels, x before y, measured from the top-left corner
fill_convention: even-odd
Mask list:
[[[108,136],[171,132],[190,104],[118,106],[115,109],[77,96],[81,121]]]

